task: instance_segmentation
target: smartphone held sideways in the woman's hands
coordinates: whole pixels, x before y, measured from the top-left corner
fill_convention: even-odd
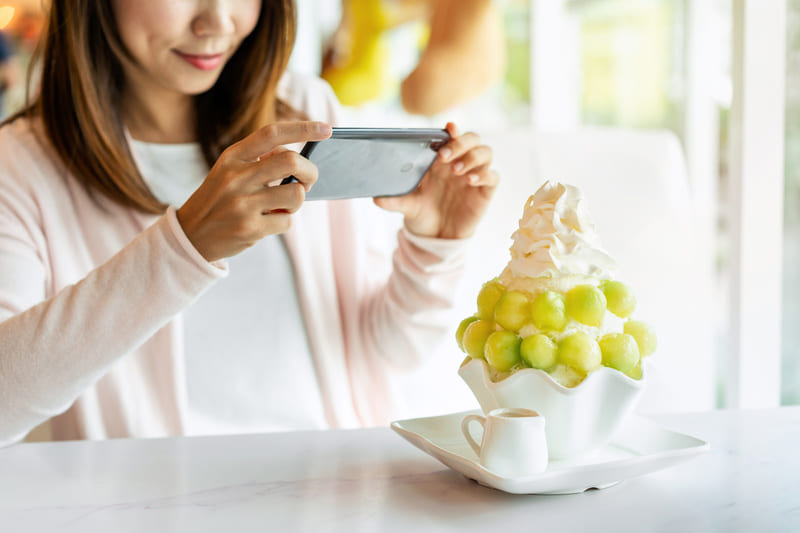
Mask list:
[[[308,142],[300,152],[319,169],[306,200],[408,194],[449,140],[446,130],[431,128],[333,128],[328,139]],[[296,180],[283,183],[289,181]]]

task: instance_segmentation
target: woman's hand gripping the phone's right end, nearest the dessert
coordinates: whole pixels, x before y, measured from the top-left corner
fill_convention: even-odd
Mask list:
[[[431,169],[405,196],[375,198],[375,204],[405,215],[405,225],[422,237],[461,239],[471,236],[489,206],[498,177],[489,166],[492,149],[474,133],[459,136],[447,124],[450,142],[439,149]]]

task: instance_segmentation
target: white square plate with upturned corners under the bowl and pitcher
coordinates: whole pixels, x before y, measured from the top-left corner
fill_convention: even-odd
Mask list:
[[[550,461],[547,470],[527,477],[502,477],[481,466],[461,433],[464,411],[392,422],[392,429],[445,466],[481,485],[513,494],[568,494],[605,488],[685,461],[709,449],[698,438],[631,415],[611,442],[577,459]]]

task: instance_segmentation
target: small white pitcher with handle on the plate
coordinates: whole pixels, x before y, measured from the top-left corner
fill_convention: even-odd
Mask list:
[[[469,432],[470,422],[483,426],[480,445]],[[465,416],[461,431],[487,470],[514,478],[540,474],[547,469],[544,423],[544,417],[531,409],[501,408],[486,417]]]

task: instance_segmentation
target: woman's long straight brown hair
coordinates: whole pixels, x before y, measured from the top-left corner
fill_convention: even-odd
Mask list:
[[[127,55],[110,1],[52,0],[37,48],[41,81],[21,116],[39,116],[70,172],[90,191],[147,213],[165,205],[131,155],[120,109]],[[292,110],[276,87],[294,46],[294,0],[264,0],[261,15],[217,83],[195,97],[197,138],[209,166],[232,143]],[[29,76],[29,84],[30,84]]]

